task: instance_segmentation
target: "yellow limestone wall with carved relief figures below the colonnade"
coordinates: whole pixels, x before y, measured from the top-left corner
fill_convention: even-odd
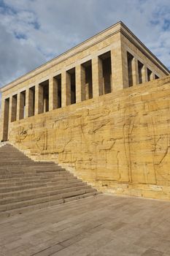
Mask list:
[[[11,123],[9,140],[101,191],[170,199],[170,76]]]

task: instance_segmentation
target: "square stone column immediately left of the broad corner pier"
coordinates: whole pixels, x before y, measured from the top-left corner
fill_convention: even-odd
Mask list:
[[[104,94],[102,61],[98,56],[92,59],[92,80],[93,98]]]

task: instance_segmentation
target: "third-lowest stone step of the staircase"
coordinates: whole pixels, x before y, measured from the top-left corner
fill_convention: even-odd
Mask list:
[[[91,187],[87,184],[79,183],[76,185],[75,184],[70,185],[69,187],[61,187],[61,188],[53,187],[51,189],[48,188],[46,189],[46,191],[43,191],[42,189],[36,189],[36,193],[35,192],[31,192],[29,194],[23,193],[20,195],[15,195],[12,197],[6,197],[3,199],[0,199],[0,206],[6,205],[9,203],[17,203],[17,202],[22,202],[26,200],[34,200],[41,197],[51,197],[53,195],[61,195],[66,192],[73,192],[73,191],[78,191],[82,189],[91,189]]]

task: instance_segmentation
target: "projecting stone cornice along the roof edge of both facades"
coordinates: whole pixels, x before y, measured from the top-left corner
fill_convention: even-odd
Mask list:
[[[117,33],[123,34],[130,42],[132,42],[136,46],[136,48],[141,50],[142,53],[145,56],[147,56],[147,58],[150,59],[159,69],[165,72],[166,75],[170,74],[169,69],[167,69],[161,63],[161,61],[158,60],[158,58],[128,29],[127,26],[125,26],[125,24],[122,21],[119,21],[114,25],[109,26],[109,28],[104,29],[104,31],[101,31],[98,34],[95,34],[93,37],[86,39],[79,45],[74,46],[74,48],[66,50],[66,52],[62,53],[59,56],[56,56],[54,59],[47,61],[45,64],[36,67],[36,69],[31,70],[25,75],[20,76],[20,78],[17,78],[16,80],[13,80],[11,83],[8,83],[7,85],[1,87],[0,91],[4,92],[9,89],[12,89],[14,86],[17,86],[18,84],[23,83],[28,79],[34,78],[36,75],[45,72],[47,69],[50,69],[60,64],[61,62],[66,61],[66,59],[69,59],[77,55],[78,53],[81,53],[82,50],[86,50],[92,47],[93,45],[98,44],[98,42],[101,42],[109,37],[112,37],[112,35]]]

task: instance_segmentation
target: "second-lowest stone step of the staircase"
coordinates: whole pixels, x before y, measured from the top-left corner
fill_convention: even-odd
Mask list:
[[[15,208],[23,208],[26,206],[33,206],[39,203],[47,203],[49,201],[53,200],[60,200],[60,199],[66,199],[68,197],[74,197],[74,196],[79,196],[83,195],[85,193],[89,192],[96,192],[96,189],[93,188],[87,188],[87,189],[73,189],[72,192],[64,192],[62,194],[58,195],[51,195],[47,197],[39,197],[31,200],[24,200],[22,202],[17,202],[17,203],[8,203],[6,205],[1,205],[0,206],[0,211],[9,211]]]

